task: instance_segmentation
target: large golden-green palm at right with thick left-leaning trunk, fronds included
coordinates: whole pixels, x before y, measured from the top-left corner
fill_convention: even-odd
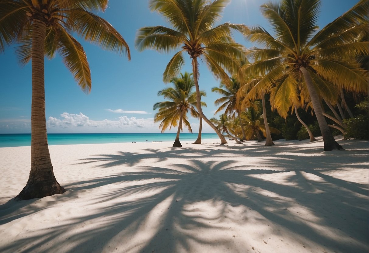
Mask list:
[[[335,141],[323,116],[318,94],[329,90],[328,83],[367,93],[368,72],[354,56],[368,54],[368,41],[355,41],[368,29],[368,0],[360,0],[342,16],[316,33],[319,0],[282,0],[262,5],[262,13],[275,37],[262,27],[251,28],[249,38],[265,48],[253,48],[256,61],[249,71],[263,77],[251,93],[262,94],[280,79],[287,85],[303,77],[324,140],[324,150],[342,149]],[[314,35],[315,34],[315,35]],[[251,95],[252,96],[252,95]]]

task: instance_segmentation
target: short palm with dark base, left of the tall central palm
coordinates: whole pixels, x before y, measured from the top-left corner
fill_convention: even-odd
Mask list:
[[[182,147],[179,141],[179,133],[183,128],[183,124],[192,133],[190,122],[187,119],[187,112],[190,111],[191,115],[195,118],[199,117],[199,113],[196,111],[196,93],[193,92],[195,86],[192,73],[185,72],[180,74],[181,77],[173,77],[170,80],[173,83],[174,88],[169,87],[158,92],[158,96],[164,96],[170,101],[158,102],[154,105],[154,110],[159,109],[159,112],[154,116],[154,122],[160,123],[161,132],[166,129],[176,127],[177,136],[173,143],[173,147]],[[205,92],[200,92],[201,96],[205,96]],[[202,102],[203,105],[206,105]]]

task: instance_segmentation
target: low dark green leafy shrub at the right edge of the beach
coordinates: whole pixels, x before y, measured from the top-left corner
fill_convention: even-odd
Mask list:
[[[345,139],[369,139],[368,115],[359,114],[355,118],[344,119],[346,124]]]

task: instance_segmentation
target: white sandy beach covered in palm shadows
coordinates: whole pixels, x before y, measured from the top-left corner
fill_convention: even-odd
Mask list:
[[[27,201],[0,148],[0,252],[367,253],[368,141],[338,140],[49,146],[67,191]]]

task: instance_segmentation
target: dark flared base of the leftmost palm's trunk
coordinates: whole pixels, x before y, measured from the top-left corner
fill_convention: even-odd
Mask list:
[[[50,180],[52,181],[50,183]],[[65,189],[54,179],[42,181],[28,181],[23,190],[14,200],[30,200],[32,198],[43,198],[54,194],[63,194]]]

